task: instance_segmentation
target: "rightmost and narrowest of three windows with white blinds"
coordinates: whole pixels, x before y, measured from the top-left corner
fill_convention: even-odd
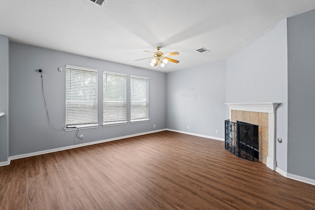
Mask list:
[[[149,120],[149,78],[130,77],[130,122]]]

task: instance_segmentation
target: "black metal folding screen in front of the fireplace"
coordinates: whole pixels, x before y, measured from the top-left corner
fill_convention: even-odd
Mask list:
[[[259,159],[258,125],[225,120],[225,149],[234,155],[254,161]]]

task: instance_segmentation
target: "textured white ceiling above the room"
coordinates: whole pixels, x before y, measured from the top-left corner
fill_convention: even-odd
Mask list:
[[[10,40],[171,72],[227,59],[315,0],[0,0],[0,34]],[[143,52],[178,51],[164,68]],[[205,47],[211,52],[196,50]]]

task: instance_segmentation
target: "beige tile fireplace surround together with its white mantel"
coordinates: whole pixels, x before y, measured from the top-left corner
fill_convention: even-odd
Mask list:
[[[258,125],[259,161],[276,170],[276,109],[281,103],[225,103],[229,120]]]

